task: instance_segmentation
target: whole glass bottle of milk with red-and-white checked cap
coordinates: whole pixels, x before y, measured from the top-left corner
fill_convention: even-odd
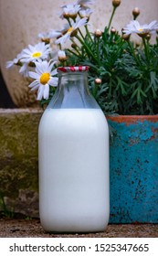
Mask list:
[[[43,229],[95,232],[109,221],[109,129],[90,95],[88,67],[58,68],[58,90],[39,123]]]

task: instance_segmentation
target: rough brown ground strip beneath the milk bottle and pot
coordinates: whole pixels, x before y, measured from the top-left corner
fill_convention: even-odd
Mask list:
[[[0,219],[1,238],[158,238],[158,224],[109,224],[98,233],[47,233],[39,219]]]

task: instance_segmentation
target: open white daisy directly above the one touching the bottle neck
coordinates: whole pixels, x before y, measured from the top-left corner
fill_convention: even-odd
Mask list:
[[[50,52],[50,45],[45,45],[44,42],[40,42],[35,46],[28,45],[28,48],[22,50],[20,61],[22,63],[41,61],[47,59]]]

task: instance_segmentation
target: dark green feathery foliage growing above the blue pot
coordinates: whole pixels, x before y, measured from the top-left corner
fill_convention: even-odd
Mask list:
[[[101,37],[86,35],[77,52],[67,51],[68,64],[90,66],[90,91],[106,113],[158,112],[158,41],[141,47],[105,27]],[[90,49],[90,51],[87,50]],[[94,80],[100,78],[101,84]]]

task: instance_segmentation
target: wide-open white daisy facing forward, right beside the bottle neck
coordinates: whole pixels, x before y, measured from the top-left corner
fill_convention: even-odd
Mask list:
[[[37,100],[40,101],[42,98],[48,99],[49,96],[49,86],[57,86],[58,78],[53,77],[56,75],[57,69],[53,69],[54,62],[47,62],[44,60],[42,62],[35,62],[36,72],[29,72],[29,77],[35,79],[28,87],[31,91],[37,91]],[[53,70],[52,70],[53,69]]]

